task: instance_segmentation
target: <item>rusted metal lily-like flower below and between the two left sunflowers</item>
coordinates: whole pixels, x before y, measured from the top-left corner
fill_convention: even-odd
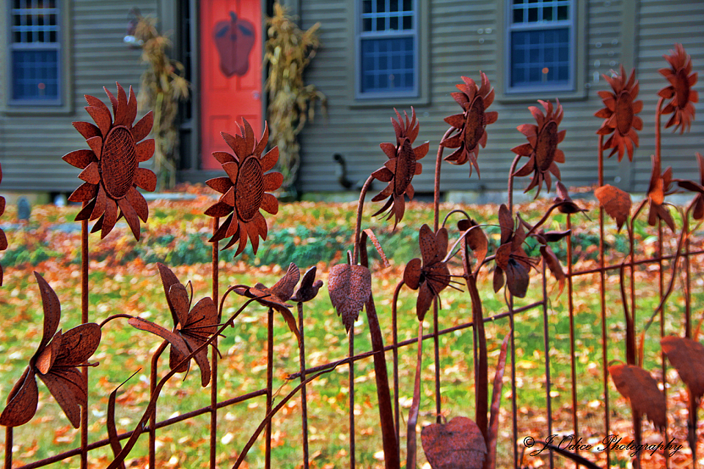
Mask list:
[[[199,346],[205,344],[210,337],[218,330],[218,308],[215,306],[213,299],[206,296],[196,303],[191,309],[193,301],[193,292],[189,296],[186,287],[178,281],[176,275],[162,263],[157,263],[159,276],[164,287],[166,302],[169,305],[169,311],[174,320],[174,330],[180,335],[188,347],[189,354]],[[182,354],[179,349],[174,346],[170,347],[169,352],[169,368],[176,370],[177,373],[183,373],[190,368],[190,361],[181,363],[186,355]],[[194,360],[201,369],[201,385],[206,387],[210,382],[210,364],[208,362],[208,351],[203,349],[199,351]]]

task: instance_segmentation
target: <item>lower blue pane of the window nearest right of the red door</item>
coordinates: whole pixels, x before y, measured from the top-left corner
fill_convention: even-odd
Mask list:
[[[361,92],[412,91],[413,38],[363,39]]]

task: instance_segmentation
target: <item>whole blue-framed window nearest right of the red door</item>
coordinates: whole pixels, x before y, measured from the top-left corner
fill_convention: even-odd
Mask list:
[[[361,0],[357,97],[418,96],[416,0]]]

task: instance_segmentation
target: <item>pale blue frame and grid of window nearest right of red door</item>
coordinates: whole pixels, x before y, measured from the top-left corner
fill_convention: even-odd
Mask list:
[[[400,4],[403,3],[403,0],[398,1]],[[363,31],[363,18],[372,19],[372,24],[377,18],[386,18],[386,25],[389,25],[390,16],[398,15],[399,27],[401,27],[403,24],[403,13],[401,11],[390,12],[389,0],[385,1],[386,11],[384,13],[363,13],[363,0],[355,1],[355,99],[415,98],[420,95],[420,44],[418,44],[420,37],[420,15],[418,1],[419,0],[411,0],[411,6],[413,8],[413,27],[409,30],[399,29],[384,31]],[[402,39],[408,37],[413,39],[413,89],[403,91],[362,92],[362,77],[360,75],[362,70],[362,41],[364,39]]]

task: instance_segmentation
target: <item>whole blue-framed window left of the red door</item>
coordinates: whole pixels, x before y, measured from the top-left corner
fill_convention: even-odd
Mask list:
[[[58,0],[11,0],[8,20],[9,101],[61,104],[61,19]]]

